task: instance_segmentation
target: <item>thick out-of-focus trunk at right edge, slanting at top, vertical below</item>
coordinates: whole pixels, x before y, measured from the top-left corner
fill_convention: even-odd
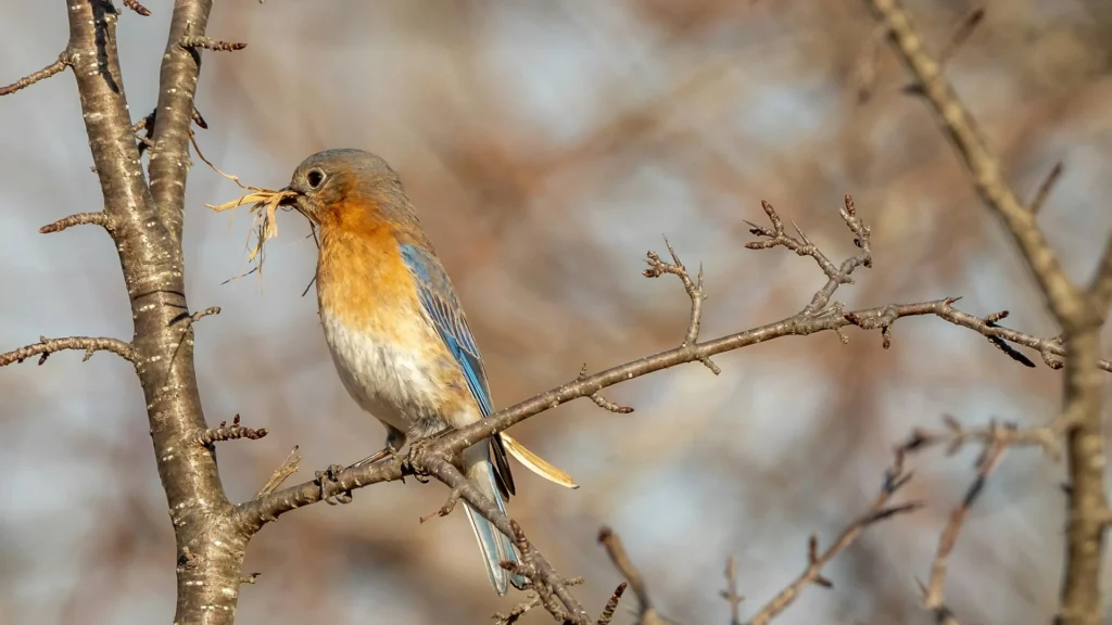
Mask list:
[[[1096,625],[1103,611],[1103,519],[1109,517],[1104,485],[1108,462],[1101,420],[1102,380],[1096,361],[1100,329],[1112,304],[1112,237],[1088,288],[1082,289],[1069,278],[1039,228],[1033,210],[1037,206],[1024,206],[1005,182],[1000,160],[985,145],[972,116],[943,76],[940,63],[924,49],[923,38],[901,2],[865,0],[865,4],[888,31],[894,50],[919,82],[919,93],[934,111],[939,125],[969,169],[973,187],[1006,227],[1037,281],[1046,307],[1062,327],[1066,355],[1063,415],[1069,424],[1066,452],[1071,488],[1060,619],[1062,625]]]

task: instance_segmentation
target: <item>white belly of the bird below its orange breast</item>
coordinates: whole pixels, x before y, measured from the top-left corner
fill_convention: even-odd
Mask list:
[[[320,318],[340,380],[364,410],[407,434],[416,429],[421,431],[415,434],[426,435],[443,427],[435,423],[439,421],[438,385],[428,375],[431,369],[425,366],[420,351],[397,347],[399,343],[419,344],[411,340],[416,337],[386,341],[327,314]],[[423,330],[416,325],[398,329],[401,335]]]

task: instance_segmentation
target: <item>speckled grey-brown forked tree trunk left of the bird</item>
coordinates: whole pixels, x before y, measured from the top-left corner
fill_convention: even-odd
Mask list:
[[[146,183],[128,113],[116,46],[117,9],[109,0],[67,0],[69,44],[105,214],[111,220],[123,274],[135,338],[131,348],[143,388],[159,477],[166,490],[179,554],[175,622],[230,624],[235,617],[246,538],[229,524],[231,504],[217,474],[215,453],[196,445],[206,430],[193,371],[192,325],[175,326],[185,297],[181,246],[172,228],[159,218]],[[166,141],[160,157],[180,163],[171,194],[181,199],[186,156],[176,152],[173,138],[188,137],[197,73],[175,73],[189,57],[177,42],[182,20],[208,14],[208,2],[178,0],[175,4],[171,52],[163,61],[158,128]],[[171,29],[173,30],[173,29]],[[190,57],[191,59],[191,57]],[[191,61],[188,61],[191,62]],[[196,69],[196,68],[193,68]],[[178,92],[166,90],[179,86]],[[183,98],[183,101],[181,101]],[[179,103],[180,102],[180,103]],[[185,113],[177,116],[178,107]],[[161,179],[166,191],[168,179]],[[180,201],[179,201],[180,206]]]

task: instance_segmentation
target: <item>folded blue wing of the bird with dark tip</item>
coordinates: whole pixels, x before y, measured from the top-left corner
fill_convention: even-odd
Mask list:
[[[487,384],[486,369],[483,368],[483,358],[479,356],[479,348],[475,345],[471,330],[467,327],[464,318],[464,309],[459,306],[456,291],[451,288],[448,274],[445,272],[440,262],[424,249],[411,244],[401,244],[401,259],[406,267],[413,272],[417,282],[417,295],[421,307],[428,312],[440,339],[448,347],[448,351],[459,364],[464,378],[467,380],[467,388],[471,391],[483,418],[494,413],[490,403],[490,387]],[[503,496],[509,497],[515,493],[514,477],[510,474],[509,463],[506,460],[506,449],[502,444],[502,437],[490,437],[490,456],[494,460],[495,482]]]

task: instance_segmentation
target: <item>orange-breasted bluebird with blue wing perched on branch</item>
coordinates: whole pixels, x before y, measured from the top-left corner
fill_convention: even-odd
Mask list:
[[[381,421],[386,449],[461,428],[494,413],[490,387],[464,309],[398,173],[381,157],[330,149],[297,166],[286,206],[318,236],[320,325],[348,395]],[[569,476],[505,433],[463,453],[467,478],[498,509],[516,494],[507,447],[527,468],[567,487]],[[490,585],[505,595],[519,576],[513,542],[465,503]]]

